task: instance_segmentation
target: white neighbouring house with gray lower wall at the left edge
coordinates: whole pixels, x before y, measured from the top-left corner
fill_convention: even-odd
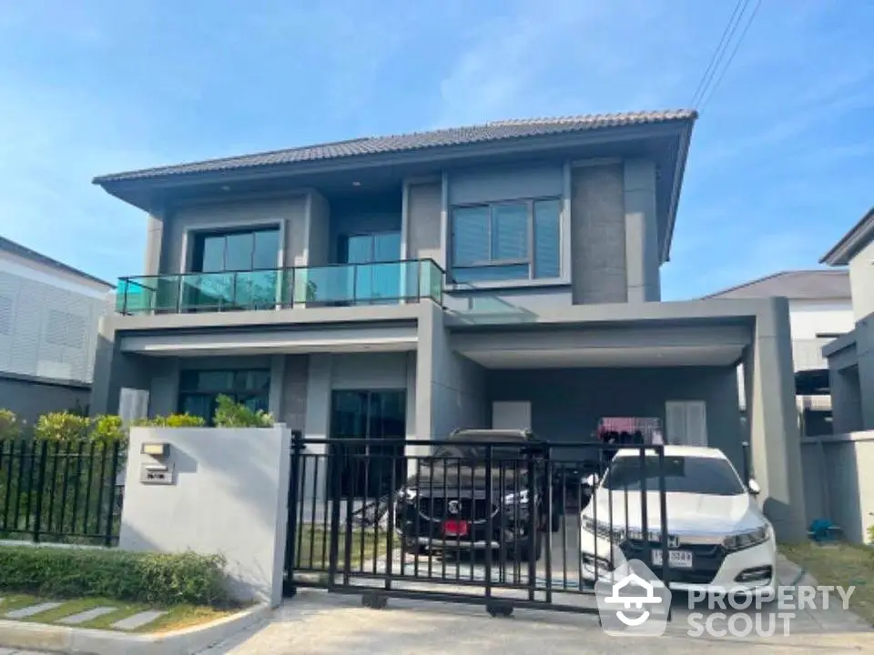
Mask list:
[[[85,410],[113,286],[0,237],[0,408]]]

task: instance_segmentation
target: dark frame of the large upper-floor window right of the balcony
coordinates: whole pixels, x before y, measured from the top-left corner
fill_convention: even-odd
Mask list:
[[[534,197],[525,197],[525,198],[514,198],[508,200],[495,200],[492,202],[478,202],[478,203],[462,203],[458,205],[452,205],[449,211],[449,234],[447,235],[447,246],[449,252],[447,253],[448,259],[450,261],[450,271],[452,272],[452,279],[455,281],[455,271],[456,270],[482,270],[486,268],[502,268],[502,267],[528,267],[528,275],[525,277],[494,277],[491,279],[483,279],[482,281],[485,283],[501,281],[501,282],[513,282],[513,280],[547,280],[547,279],[557,279],[562,275],[562,240],[564,238],[562,231],[562,213],[564,211],[564,207],[562,206],[562,196],[534,196]],[[537,203],[541,202],[556,202],[558,204],[558,255],[559,255],[559,270],[558,275],[550,276],[550,277],[537,277],[537,264],[535,261],[536,255],[536,243],[534,237],[534,207]],[[523,258],[513,258],[513,259],[494,259],[492,257],[493,253],[493,222],[494,222],[494,207],[506,207],[513,205],[524,205],[526,209],[526,246],[527,246],[527,254],[526,257]],[[488,218],[488,244],[489,244],[489,258],[486,260],[478,260],[474,261],[471,264],[464,264],[462,266],[458,266],[455,263],[455,212],[459,209],[476,209],[486,207],[489,211]],[[479,280],[477,280],[479,282]]]

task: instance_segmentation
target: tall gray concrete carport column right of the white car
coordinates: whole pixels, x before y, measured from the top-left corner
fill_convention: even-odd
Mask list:
[[[759,497],[777,539],[807,537],[788,300],[762,302],[747,348],[747,426]]]

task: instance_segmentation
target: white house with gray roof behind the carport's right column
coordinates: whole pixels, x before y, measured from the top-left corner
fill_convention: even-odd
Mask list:
[[[719,291],[708,298],[787,297],[792,328],[792,360],[802,435],[831,433],[828,363],[822,348],[853,328],[846,271],[783,271]],[[743,385],[743,367],[738,367]],[[740,398],[745,409],[744,396]]]

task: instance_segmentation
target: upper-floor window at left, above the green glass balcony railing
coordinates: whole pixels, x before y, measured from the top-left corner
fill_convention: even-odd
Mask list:
[[[279,229],[203,232],[195,237],[191,270],[196,273],[276,268]]]

